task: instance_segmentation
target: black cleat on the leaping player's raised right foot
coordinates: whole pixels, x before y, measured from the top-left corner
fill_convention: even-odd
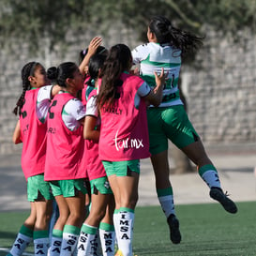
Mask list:
[[[212,187],[210,190],[210,197],[218,201],[218,203],[220,203],[227,212],[232,214],[237,212],[235,203],[228,198],[227,192],[225,194],[223,193],[221,188]]]

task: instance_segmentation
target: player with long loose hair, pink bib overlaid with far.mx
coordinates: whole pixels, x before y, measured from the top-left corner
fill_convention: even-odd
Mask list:
[[[156,73],[153,91],[140,77],[128,73],[131,66],[128,47],[113,46],[102,68],[96,100],[101,118],[98,154],[113,190],[117,255],[123,256],[132,256],[140,159],[150,156],[145,101],[158,106],[165,83],[163,71],[159,76]]]

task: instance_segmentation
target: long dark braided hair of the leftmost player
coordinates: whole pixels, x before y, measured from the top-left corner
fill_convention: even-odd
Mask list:
[[[18,99],[16,103],[16,107],[13,109],[12,113],[17,115],[17,113],[21,114],[21,110],[23,108],[23,103],[24,103],[24,97],[25,97],[25,92],[31,89],[31,84],[28,78],[30,76],[34,76],[36,68],[38,66],[41,66],[38,62],[32,61],[23,66],[22,69],[22,81],[23,81],[23,93]]]

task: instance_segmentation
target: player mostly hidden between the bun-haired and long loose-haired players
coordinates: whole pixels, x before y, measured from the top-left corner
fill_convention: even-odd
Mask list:
[[[86,139],[87,173],[91,184],[91,209],[85,219],[78,243],[78,256],[94,255],[98,248],[98,228],[103,256],[114,255],[115,233],[113,228],[113,192],[102,162],[98,158],[100,117],[95,106],[98,74],[106,54],[96,53],[90,58],[87,89],[91,91],[86,104],[83,137]],[[85,95],[85,93],[84,93]]]

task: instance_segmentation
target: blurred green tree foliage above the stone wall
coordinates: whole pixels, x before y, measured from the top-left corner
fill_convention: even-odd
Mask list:
[[[0,33],[2,42],[19,38],[29,42],[31,49],[50,38],[50,48],[67,43],[69,30],[81,33],[93,29],[106,35],[108,30],[124,24],[145,35],[148,20],[165,15],[174,25],[202,34],[203,24],[210,24],[223,33],[235,35],[248,27],[255,33],[256,0],[0,0]]]

